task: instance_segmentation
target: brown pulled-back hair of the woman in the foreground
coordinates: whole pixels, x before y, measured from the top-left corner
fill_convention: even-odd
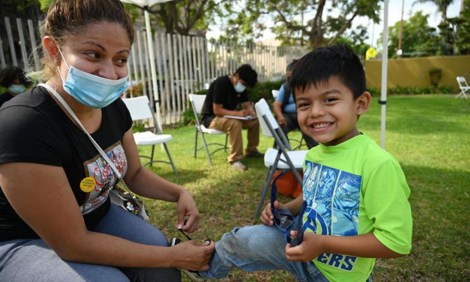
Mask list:
[[[55,0],[47,10],[42,34],[51,36],[55,43],[62,46],[68,35],[82,31],[87,25],[96,22],[120,24],[134,42],[135,30],[132,20],[119,0]],[[47,56],[42,60],[42,77],[50,78],[56,68]]]

